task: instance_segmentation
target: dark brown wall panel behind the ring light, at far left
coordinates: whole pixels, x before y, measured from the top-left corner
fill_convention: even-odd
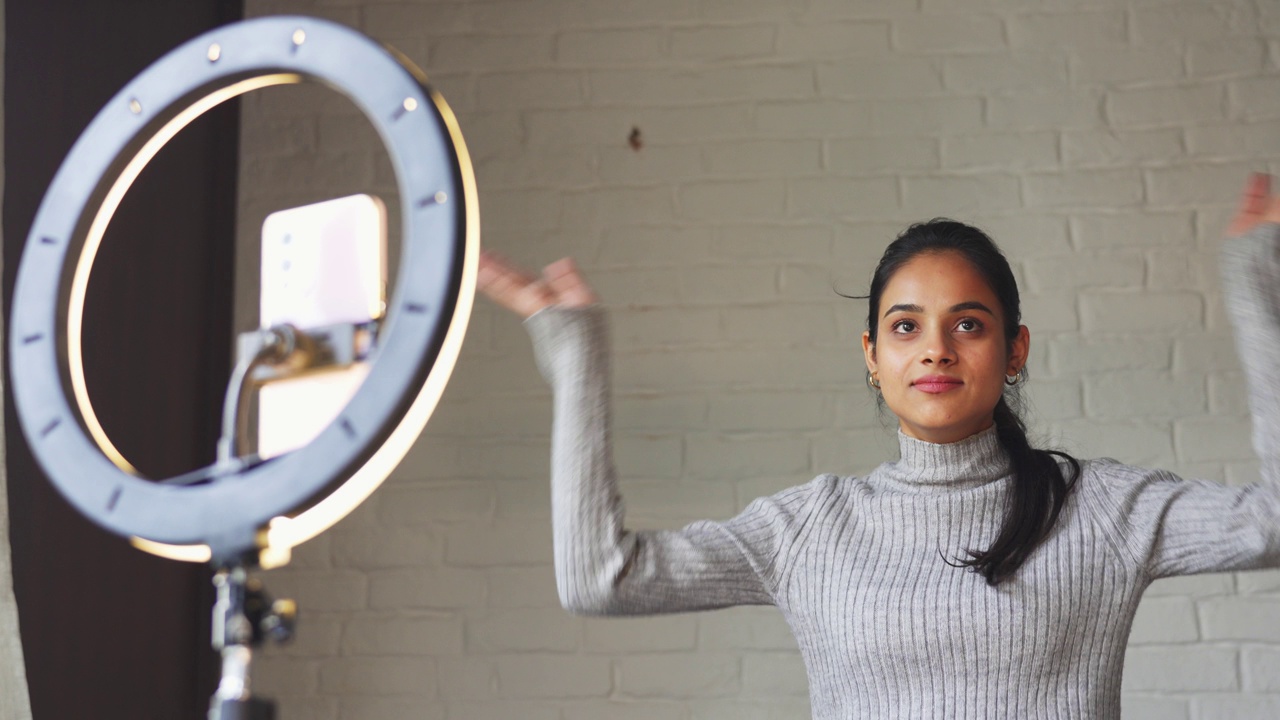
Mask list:
[[[5,15],[8,313],[32,218],[79,132],[138,70],[239,19],[242,3],[41,0],[6,3]],[[230,361],[237,127],[237,108],[227,105],[156,158],[113,220],[90,284],[95,409],[152,477],[212,460]],[[14,591],[36,720],[202,717],[216,674],[209,570],[138,552],[81,518],[32,461],[8,392],[5,423]]]

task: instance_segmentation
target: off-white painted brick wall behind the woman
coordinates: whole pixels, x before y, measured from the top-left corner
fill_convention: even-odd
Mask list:
[[[893,452],[863,386],[860,292],[909,222],[1014,261],[1033,425],[1084,456],[1257,475],[1219,300],[1219,228],[1280,170],[1274,0],[248,0],[406,51],[458,113],[484,241],[575,255],[613,311],[630,516],[727,516]],[[264,213],[372,190],[384,152],[321,88],[246,101],[242,287]],[[639,128],[643,150],[627,146]],[[806,715],[768,609],[579,619],[550,570],[550,405],[481,304],[392,480],[270,573],[300,639],[256,666],[289,720]],[[1280,716],[1280,574],[1165,580],[1126,717]]]

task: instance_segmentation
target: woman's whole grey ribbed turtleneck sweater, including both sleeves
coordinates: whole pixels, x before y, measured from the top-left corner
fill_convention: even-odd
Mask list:
[[[813,715],[1119,717],[1120,671],[1147,585],[1280,565],[1280,225],[1228,242],[1225,295],[1267,482],[1224,487],[1110,460],[1083,462],[1052,533],[998,587],[943,561],[986,548],[1009,461],[993,429],[951,445],[899,436],[867,477],[820,475],[726,521],[623,527],[609,446],[598,307],[527,320],[556,395],[556,574],[576,612],[776,605],[809,674]]]

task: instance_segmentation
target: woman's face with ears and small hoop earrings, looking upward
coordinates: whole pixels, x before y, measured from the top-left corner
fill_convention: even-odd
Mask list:
[[[954,251],[916,255],[881,295],[867,369],[902,432],[956,442],[991,427],[1005,375],[1027,363],[1027,327],[1010,342],[1004,310],[978,269]]]

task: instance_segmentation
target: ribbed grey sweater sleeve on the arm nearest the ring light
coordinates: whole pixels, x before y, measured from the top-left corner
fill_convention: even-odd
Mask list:
[[[604,311],[553,306],[525,325],[554,393],[552,530],[562,605],[637,615],[772,603],[777,560],[804,488],[756,500],[722,523],[626,529],[611,447]]]

